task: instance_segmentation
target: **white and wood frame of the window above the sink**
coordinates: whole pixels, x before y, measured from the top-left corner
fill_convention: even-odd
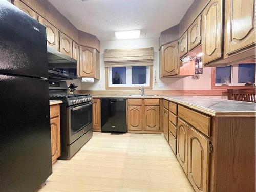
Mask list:
[[[134,89],[134,90],[136,90],[136,89],[139,89],[142,86],[145,89],[152,89],[153,66],[147,66],[147,68],[146,68],[147,74],[149,74],[146,77],[148,83],[147,84],[134,84],[134,85],[132,84],[132,78],[130,78],[130,79],[128,78],[129,74],[132,77],[132,66],[123,66],[123,67],[126,67],[126,84],[112,84],[112,67],[106,67],[105,68],[106,89],[114,89],[114,90]]]

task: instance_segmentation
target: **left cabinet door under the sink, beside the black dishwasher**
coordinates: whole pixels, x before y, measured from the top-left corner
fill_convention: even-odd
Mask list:
[[[127,130],[142,131],[142,106],[127,107]]]

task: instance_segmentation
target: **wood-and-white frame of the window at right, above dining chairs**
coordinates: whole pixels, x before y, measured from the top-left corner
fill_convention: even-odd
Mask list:
[[[242,63],[239,63],[242,64]],[[245,88],[255,88],[255,86],[245,86],[245,83],[233,83],[238,82],[238,64],[231,67],[231,83],[228,86],[221,86],[221,83],[215,83],[216,77],[216,67],[212,67],[211,70],[211,89],[245,89]],[[255,74],[256,82],[256,74]]]

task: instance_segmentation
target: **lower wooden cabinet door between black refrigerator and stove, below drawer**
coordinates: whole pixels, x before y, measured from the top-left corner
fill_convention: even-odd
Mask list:
[[[54,117],[51,123],[51,146],[52,146],[52,162],[54,163],[60,156],[60,117]]]

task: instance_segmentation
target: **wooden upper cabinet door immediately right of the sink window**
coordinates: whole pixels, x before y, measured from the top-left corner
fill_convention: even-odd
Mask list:
[[[178,42],[170,42],[161,47],[160,67],[161,77],[178,75]]]

